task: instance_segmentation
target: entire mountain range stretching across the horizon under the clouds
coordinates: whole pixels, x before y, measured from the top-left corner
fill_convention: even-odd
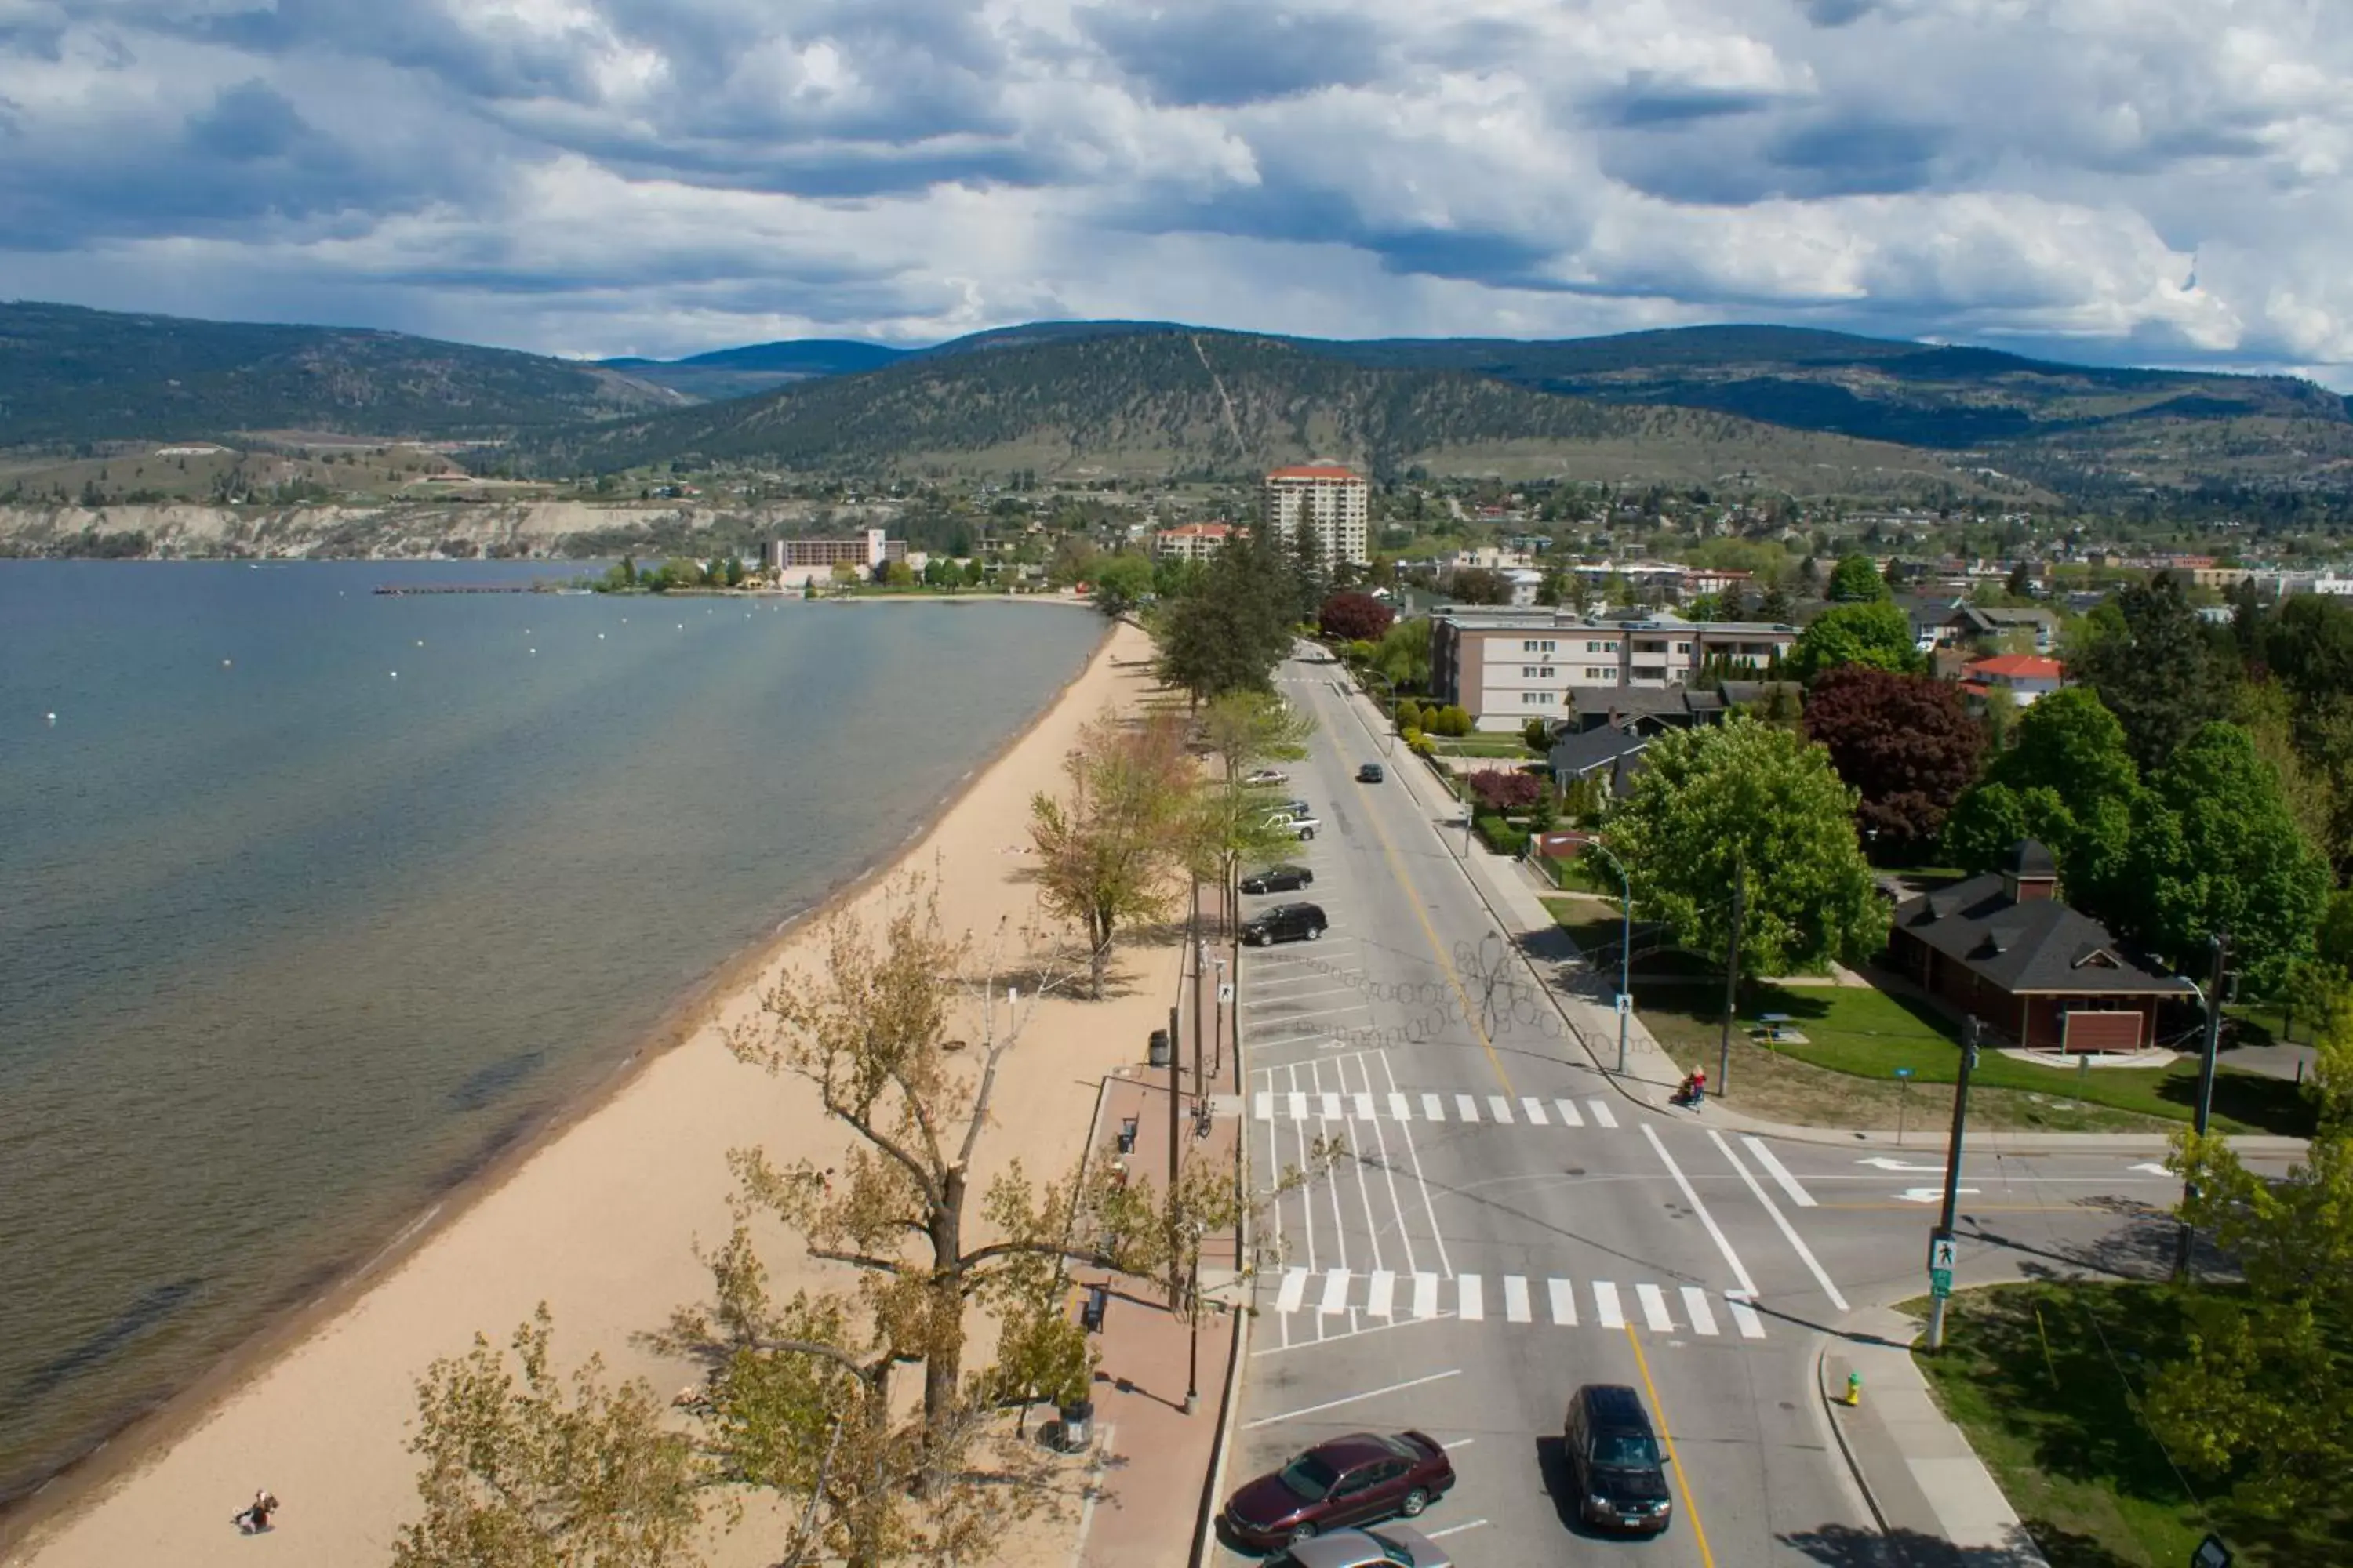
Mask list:
[[[1793,327],[1332,341],[1033,322],[932,348],[551,360],[391,331],[0,303],[0,447],[504,440],[518,468],[1240,475],[1339,456],[1793,494],[2353,496],[2344,397]]]

